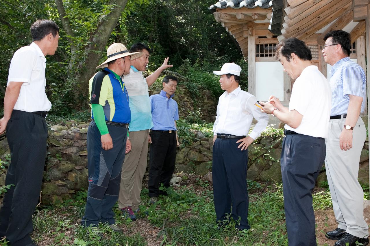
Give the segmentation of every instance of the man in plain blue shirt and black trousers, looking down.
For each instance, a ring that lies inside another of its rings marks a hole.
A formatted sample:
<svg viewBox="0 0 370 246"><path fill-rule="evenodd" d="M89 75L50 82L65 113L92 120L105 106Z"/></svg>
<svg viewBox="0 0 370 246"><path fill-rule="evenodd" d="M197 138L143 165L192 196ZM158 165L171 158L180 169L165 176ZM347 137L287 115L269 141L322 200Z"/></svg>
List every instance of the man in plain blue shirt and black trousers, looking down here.
<svg viewBox="0 0 370 246"><path fill-rule="evenodd" d="M175 170L176 146L179 146L175 122L179 119L179 110L176 101L172 99L177 78L165 76L162 85L161 93L149 97L153 122L149 154L150 204L155 204L159 195L167 195L165 191L159 191L159 184L169 187Z"/></svg>

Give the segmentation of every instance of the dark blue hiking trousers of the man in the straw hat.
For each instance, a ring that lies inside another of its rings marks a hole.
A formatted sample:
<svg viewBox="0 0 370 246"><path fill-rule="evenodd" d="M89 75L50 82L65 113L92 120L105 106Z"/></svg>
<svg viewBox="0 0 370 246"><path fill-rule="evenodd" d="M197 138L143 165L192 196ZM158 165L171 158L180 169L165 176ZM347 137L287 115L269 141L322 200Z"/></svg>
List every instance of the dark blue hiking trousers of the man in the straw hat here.
<svg viewBox="0 0 370 246"><path fill-rule="evenodd" d="M107 124L113 148L101 148L100 132L92 121L87 131L89 188L83 226L99 222L114 224L112 208L120 192L121 168L125 159L127 129Z"/></svg>

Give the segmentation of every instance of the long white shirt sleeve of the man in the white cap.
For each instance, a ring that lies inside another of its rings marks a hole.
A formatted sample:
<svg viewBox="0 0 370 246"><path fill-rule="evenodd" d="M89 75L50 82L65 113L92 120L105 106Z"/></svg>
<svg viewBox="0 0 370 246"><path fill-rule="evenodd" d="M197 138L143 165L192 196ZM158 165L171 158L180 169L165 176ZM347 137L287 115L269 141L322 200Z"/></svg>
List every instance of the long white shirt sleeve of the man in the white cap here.
<svg viewBox="0 0 370 246"><path fill-rule="evenodd" d="M262 113L261 109L254 105L257 102L255 96L251 96L246 102L246 110L252 113L253 117L258 121L252 132L248 135L252 139L258 138L262 131L266 129L269 123L269 116L266 113Z"/></svg>

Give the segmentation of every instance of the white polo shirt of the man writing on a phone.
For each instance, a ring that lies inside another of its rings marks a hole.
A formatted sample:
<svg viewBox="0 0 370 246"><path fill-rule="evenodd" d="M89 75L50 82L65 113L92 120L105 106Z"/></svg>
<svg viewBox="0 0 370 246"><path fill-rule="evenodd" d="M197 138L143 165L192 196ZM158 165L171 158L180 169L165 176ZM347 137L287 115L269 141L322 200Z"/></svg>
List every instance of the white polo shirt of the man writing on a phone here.
<svg viewBox="0 0 370 246"><path fill-rule="evenodd" d="M312 137L327 138L332 102L330 84L317 66L307 66L294 82L289 111L303 115L297 128L285 129Z"/></svg>

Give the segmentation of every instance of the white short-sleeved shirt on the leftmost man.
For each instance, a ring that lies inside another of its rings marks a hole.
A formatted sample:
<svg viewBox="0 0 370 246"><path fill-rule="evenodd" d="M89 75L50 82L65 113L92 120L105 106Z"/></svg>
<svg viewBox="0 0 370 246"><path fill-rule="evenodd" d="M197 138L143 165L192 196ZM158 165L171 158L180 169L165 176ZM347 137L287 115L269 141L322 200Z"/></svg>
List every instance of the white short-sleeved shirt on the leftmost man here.
<svg viewBox="0 0 370 246"><path fill-rule="evenodd" d="M51 102L45 93L46 58L34 42L18 49L11 59L8 85L23 82L14 109L35 112L49 111Z"/></svg>

